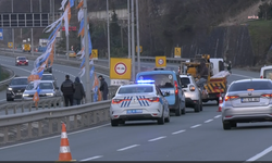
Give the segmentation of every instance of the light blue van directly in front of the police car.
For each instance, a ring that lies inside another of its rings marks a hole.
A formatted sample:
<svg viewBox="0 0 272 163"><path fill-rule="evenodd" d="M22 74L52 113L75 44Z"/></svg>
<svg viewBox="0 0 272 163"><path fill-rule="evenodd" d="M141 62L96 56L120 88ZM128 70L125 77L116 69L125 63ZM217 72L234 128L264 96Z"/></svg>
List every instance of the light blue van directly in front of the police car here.
<svg viewBox="0 0 272 163"><path fill-rule="evenodd" d="M154 70L140 72L136 75L136 80L154 80L162 93L170 92L170 96L165 97L170 112L175 113L176 116L185 114L185 95L181 78L174 71Z"/></svg>

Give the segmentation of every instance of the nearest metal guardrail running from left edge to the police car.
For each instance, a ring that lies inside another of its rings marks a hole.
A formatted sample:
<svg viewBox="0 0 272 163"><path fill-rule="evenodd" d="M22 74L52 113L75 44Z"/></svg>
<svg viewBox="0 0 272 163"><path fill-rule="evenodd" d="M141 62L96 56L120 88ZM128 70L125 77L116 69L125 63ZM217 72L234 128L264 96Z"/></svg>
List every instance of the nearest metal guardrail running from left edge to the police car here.
<svg viewBox="0 0 272 163"><path fill-rule="evenodd" d="M61 131L61 123L67 130L78 129L110 120L111 100L75 105L71 108L42 110L0 118L0 143L49 136Z"/></svg>

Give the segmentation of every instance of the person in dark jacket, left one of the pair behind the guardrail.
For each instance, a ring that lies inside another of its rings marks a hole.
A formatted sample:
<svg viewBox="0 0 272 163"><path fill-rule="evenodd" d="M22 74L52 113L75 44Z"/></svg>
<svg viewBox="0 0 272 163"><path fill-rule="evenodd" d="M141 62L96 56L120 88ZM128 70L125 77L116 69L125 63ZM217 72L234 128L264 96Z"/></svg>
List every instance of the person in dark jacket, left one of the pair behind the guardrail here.
<svg viewBox="0 0 272 163"><path fill-rule="evenodd" d="M69 103L70 105L73 105L75 86L74 83L70 79L69 75L66 75L65 78L66 79L61 85L61 91L64 97L65 106L69 106Z"/></svg>

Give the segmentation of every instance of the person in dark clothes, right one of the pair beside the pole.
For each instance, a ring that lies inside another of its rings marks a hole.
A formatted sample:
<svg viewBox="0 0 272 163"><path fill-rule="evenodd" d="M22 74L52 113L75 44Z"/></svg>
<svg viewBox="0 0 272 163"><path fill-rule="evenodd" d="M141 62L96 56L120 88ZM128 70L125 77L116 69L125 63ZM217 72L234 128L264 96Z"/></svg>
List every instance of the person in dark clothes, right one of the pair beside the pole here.
<svg viewBox="0 0 272 163"><path fill-rule="evenodd" d="M83 98L85 98L85 91L84 91L83 84L81 83L79 77L75 78L74 86L75 86L74 104L78 105L78 104L82 104L82 100Z"/></svg>

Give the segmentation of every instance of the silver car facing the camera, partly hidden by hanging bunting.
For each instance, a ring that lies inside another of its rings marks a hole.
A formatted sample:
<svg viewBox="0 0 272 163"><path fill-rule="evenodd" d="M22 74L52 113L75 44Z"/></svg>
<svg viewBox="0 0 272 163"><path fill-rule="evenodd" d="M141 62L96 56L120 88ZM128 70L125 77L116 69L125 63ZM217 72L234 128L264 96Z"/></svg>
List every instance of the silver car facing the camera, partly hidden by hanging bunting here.
<svg viewBox="0 0 272 163"><path fill-rule="evenodd" d="M34 88L34 82L28 84L25 91L23 92L23 100L33 100L33 97L37 89ZM39 82L39 98L47 98L47 97L58 97L61 96L61 92L58 87L54 86L53 80L40 80Z"/></svg>

